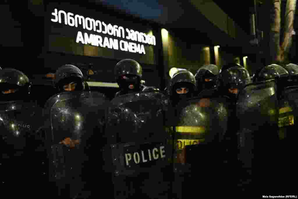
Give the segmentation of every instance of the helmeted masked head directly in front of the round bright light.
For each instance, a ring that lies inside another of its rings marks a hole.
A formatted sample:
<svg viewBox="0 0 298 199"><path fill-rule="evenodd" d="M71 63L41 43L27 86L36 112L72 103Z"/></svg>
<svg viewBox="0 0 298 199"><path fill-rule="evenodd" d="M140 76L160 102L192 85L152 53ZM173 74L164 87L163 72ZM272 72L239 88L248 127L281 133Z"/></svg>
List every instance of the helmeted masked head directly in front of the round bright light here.
<svg viewBox="0 0 298 199"><path fill-rule="evenodd" d="M194 75L188 70L179 70L173 74L169 84L169 94L173 105L178 104L180 100L192 98L197 90Z"/></svg>

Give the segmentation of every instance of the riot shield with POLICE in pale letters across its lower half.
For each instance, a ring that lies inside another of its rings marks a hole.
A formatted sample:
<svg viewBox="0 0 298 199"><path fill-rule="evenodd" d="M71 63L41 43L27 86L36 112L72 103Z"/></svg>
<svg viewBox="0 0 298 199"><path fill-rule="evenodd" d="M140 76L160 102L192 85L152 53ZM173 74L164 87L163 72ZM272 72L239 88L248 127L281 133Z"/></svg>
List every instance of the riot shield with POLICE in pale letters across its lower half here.
<svg viewBox="0 0 298 199"><path fill-rule="evenodd" d="M108 108L105 171L115 198L167 198L171 150L164 126L164 95L158 91L115 97Z"/></svg>

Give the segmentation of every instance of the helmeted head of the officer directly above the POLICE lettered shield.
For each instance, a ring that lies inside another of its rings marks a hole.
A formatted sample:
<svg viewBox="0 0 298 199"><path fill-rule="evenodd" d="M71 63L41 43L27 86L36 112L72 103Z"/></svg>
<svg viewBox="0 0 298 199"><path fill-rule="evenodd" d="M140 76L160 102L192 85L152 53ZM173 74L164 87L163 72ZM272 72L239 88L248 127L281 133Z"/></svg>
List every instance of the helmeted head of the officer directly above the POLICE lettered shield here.
<svg viewBox="0 0 298 199"><path fill-rule="evenodd" d="M135 60L124 59L115 66L115 78L121 91L140 91L142 66Z"/></svg>

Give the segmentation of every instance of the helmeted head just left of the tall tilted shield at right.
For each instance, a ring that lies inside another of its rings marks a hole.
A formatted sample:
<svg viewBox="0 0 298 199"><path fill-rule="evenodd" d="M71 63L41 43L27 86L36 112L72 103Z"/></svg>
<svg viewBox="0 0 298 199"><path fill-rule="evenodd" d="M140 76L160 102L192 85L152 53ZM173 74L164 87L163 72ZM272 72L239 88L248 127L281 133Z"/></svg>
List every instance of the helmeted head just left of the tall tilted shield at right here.
<svg viewBox="0 0 298 199"><path fill-rule="evenodd" d="M245 68L231 67L222 71L217 80L217 89L223 95L236 99L240 90L249 83L251 79Z"/></svg>

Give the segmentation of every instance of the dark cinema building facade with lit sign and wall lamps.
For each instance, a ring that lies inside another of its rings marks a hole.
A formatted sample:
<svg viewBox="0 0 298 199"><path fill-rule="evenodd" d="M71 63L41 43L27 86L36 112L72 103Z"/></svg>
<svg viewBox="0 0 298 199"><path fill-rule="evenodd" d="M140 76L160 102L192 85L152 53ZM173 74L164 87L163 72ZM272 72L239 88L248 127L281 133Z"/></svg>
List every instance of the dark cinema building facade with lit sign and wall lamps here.
<svg viewBox="0 0 298 199"><path fill-rule="evenodd" d="M144 19L92 1L73 4L30 0L18 5L7 1L3 13L10 13L6 17L12 20L6 20L9 29L2 31L5 47L1 65L12 67L11 63L15 63L14 68L35 78L55 72L64 64L73 64L88 77L87 81L117 87L114 66L129 58L141 64L146 85L163 89L172 67L195 74L204 64L221 67L235 60L244 64L241 49L229 48L237 43L233 38L235 31L231 36L216 28L194 7L174 3L173 6L176 6L173 10L182 9L181 14L173 20L171 16L175 13L167 13L168 19L162 21ZM188 27L186 21L192 20L190 16L202 26ZM7 39L10 37L13 39ZM88 76L89 69L93 75Z"/></svg>

